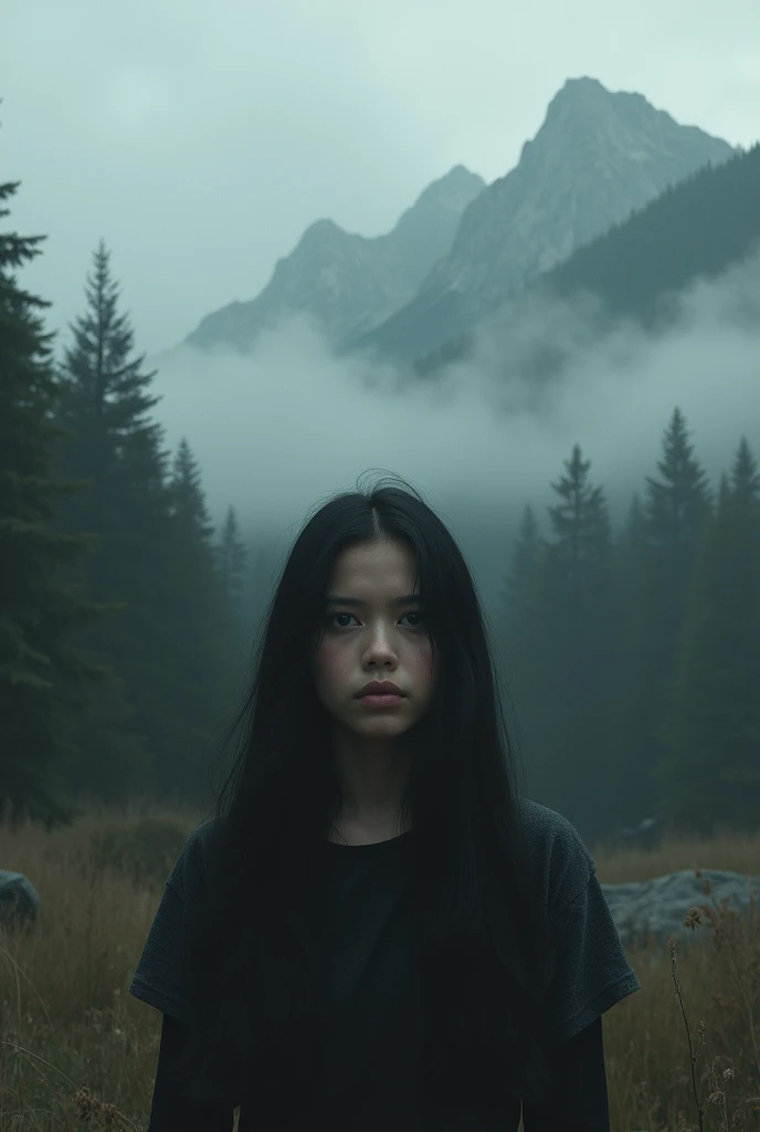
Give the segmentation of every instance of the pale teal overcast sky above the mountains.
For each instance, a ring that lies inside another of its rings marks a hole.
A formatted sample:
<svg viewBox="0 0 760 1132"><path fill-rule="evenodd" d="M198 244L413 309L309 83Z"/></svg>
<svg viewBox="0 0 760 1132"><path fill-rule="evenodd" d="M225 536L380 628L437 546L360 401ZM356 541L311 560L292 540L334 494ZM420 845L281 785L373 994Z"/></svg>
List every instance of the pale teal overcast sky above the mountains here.
<svg viewBox="0 0 760 1132"><path fill-rule="evenodd" d="M569 77L758 139L758 0L2 0L0 179L80 309L100 237L138 346L249 299L304 228L392 228L458 162L503 175Z"/></svg>

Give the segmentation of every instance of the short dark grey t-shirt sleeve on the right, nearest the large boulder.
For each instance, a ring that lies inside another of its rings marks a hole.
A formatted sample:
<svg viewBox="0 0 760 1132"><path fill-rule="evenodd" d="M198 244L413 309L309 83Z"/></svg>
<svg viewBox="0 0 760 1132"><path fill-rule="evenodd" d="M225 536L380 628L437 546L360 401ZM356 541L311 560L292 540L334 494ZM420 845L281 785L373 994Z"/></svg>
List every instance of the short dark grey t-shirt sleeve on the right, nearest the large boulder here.
<svg viewBox="0 0 760 1132"><path fill-rule="evenodd" d="M551 919L555 963L549 998L558 1041L567 1041L615 1003L641 989L594 861L585 850L582 859L586 882L579 892L559 903Z"/></svg>

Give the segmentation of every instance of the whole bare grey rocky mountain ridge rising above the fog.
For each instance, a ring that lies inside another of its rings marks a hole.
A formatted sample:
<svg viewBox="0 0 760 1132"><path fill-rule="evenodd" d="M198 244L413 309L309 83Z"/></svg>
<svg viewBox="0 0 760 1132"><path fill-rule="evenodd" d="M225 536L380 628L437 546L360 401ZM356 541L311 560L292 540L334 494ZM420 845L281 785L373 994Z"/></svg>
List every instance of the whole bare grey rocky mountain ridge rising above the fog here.
<svg viewBox="0 0 760 1132"><path fill-rule="evenodd" d="M187 342L248 351L293 314L338 352L411 361L472 329L543 272L734 149L641 94L568 79L518 164L487 187L456 165L391 232L311 224L254 299L208 315Z"/></svg>

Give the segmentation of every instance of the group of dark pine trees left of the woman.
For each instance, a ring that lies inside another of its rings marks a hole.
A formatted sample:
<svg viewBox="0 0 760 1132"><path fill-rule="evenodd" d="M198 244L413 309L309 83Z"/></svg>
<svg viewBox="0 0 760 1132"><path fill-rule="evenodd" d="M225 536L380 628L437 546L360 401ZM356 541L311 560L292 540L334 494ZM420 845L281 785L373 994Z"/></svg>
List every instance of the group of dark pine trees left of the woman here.
<svg viewBox="0 0 760 1132"><path fill-rule="evenodd" d="M0 233L0 808L200 801L238 691L248 550L233 507L214 531L188 440L164 448L103 243L54 360L50 305L14 274L42 239Z"/></svg>

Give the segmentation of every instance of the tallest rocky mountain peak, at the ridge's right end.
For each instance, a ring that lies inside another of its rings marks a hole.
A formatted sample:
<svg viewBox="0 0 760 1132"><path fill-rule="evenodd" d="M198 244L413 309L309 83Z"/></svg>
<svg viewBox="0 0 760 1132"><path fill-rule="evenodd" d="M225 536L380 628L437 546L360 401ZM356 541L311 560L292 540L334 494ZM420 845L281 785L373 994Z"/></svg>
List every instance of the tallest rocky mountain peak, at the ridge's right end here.
<svg viewBox="0 0 760 1132"><path fill-rule="evenodd" d="M415 299L364 344L397 357L434 350L668 185L732 153L641 94L568 79L515 169L463 212L451 250Z"/></svg>

